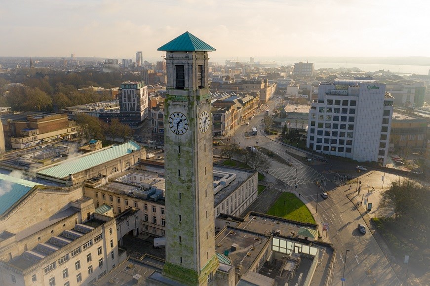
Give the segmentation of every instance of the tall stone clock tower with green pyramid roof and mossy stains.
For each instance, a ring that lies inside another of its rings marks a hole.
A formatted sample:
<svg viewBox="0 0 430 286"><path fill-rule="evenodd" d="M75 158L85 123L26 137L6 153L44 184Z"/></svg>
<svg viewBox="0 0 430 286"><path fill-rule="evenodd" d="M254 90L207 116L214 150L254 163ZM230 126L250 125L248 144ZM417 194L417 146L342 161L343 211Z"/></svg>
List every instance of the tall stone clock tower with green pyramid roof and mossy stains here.
<svg viewBox="0 0 430 286"><path fill-rule="evenodd" d="M212 284L219 261L207 52L215 49L186 32L158 50L166 52L167 68L163 275L187 285Z"/></svg>

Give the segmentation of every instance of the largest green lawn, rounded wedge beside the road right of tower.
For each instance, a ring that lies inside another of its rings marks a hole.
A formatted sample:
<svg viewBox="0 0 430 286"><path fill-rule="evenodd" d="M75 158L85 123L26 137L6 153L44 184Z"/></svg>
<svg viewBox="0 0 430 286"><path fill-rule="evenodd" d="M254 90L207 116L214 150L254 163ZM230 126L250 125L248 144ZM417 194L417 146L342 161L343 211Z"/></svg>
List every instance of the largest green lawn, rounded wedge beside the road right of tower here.
<svg viewBox="0 0 430 286"><path fill-rule="evenodd" d="M292 193L282 193L267 214L305 223L315 223L306 205Z"/></svg>

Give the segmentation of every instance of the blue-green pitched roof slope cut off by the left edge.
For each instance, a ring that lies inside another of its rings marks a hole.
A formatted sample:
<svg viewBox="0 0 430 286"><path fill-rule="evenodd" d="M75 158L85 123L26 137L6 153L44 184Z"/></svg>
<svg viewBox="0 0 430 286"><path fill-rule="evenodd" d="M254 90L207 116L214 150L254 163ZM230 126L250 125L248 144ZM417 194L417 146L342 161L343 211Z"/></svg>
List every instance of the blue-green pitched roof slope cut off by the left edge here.
<svg viewBox="0 0 430 286"><path fill-rule="evenodd" d="M0 214L18 202L36 185L41 184L0 174Z"/></svg>

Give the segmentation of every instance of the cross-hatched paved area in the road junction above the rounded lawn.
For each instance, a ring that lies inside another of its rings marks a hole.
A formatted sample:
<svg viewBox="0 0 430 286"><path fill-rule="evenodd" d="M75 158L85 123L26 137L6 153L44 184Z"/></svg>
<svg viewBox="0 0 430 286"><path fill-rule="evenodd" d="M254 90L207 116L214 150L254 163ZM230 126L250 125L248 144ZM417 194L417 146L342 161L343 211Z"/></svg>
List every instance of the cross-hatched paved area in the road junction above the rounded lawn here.
<svg viewBox="0 0 430 286"><path fill-rule="evenodd" d="M290 186L294 186L296 179L296 169L297 185L308 184L321 180L328 181L328 178L322 176L308 166L287 166L283 168L274 168L269 170L269 174Z"/></svg>

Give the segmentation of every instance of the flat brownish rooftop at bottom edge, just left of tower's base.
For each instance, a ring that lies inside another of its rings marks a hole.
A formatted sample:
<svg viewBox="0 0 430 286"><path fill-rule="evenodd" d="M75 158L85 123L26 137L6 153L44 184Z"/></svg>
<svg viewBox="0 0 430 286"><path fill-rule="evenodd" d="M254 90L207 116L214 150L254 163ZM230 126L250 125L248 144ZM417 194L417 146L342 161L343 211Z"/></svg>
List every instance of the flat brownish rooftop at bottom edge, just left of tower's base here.
<svg viewBox="0 0 430 286"><path fill-rule="evenodd" d="M154 272L161 273L163 267L164 261L156 257L145 255L140 260L128 257L107 275L95 282L94 285L146 285L146 279ZM136 279L133 279L133 277Z"/></svg>

